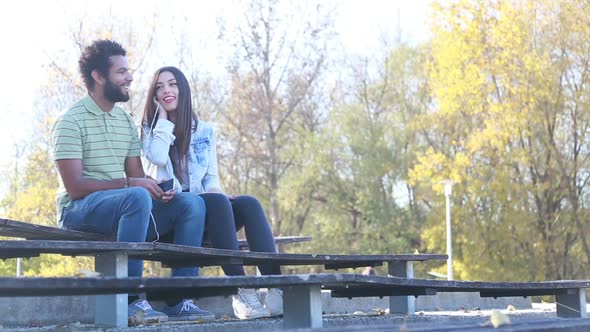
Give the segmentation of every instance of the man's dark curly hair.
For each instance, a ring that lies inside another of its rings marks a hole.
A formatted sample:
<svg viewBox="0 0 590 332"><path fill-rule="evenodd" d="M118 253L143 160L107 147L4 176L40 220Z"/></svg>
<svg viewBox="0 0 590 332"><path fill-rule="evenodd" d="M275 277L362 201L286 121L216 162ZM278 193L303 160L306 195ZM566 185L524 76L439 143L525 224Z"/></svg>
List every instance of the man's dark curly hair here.
<svg viewBox="0 0 590 332"><path fill-rule="evenodd" d="M78 61L80 74L82 74L86 88L89 91L94 89L93 70L97 70L103 77L108 77L111 67L110 57L113 55L125 56L126 54L123 46L112 40L100 39L87 46Z"/></svg>

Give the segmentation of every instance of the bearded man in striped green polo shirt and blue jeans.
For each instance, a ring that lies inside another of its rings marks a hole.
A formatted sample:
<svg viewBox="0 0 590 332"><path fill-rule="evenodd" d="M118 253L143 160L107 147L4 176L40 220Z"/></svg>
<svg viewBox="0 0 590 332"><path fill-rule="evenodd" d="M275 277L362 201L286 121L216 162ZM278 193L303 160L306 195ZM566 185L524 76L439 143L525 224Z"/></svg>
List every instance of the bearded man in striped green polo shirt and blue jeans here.
<svg viewBox="0 0 590 332"><path fill-rule="evenodd" d="M117 102L129 100L133 76L118 43L97 40L79 60L88 95L61 115L51 132L53 158L60 174L57 218L60 227L116 234L117 241L144 242L174 234L174 243L200 246L205 204L197 195L162 191L146 178L140 142L129 114ZM150 223L153 221L153 223ZM129 260L129 276L142 275L143 262ZM198 275L198 269L173 269L173 276ZM211 319L191 300L158 312L145 300L129 297L129 316L146 321Z"/></svg>

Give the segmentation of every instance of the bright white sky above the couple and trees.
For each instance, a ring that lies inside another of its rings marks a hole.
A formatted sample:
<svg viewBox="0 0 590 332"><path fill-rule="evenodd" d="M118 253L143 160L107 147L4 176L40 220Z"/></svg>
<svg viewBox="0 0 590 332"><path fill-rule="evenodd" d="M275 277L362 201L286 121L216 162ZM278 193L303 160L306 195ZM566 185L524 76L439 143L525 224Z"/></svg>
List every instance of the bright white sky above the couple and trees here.
<svg viewBox="0 0 590 332"><path fill-rule="evenodd" d="M429 2L326 0L322 3L336 8L335 29L344 49L362 55L378 47L384 33L395 36L398 27L403 41L427 40L425 20ZM293 3L299 1L293 0ZM96 17L108 15L111 11L119 16L143 18L151 17L154 11L158 11L163 24L172 25L175 21L165 22L165 18L191 13L191 17L197 18L192 19L194 23L191 24L198 25L198 31L206 31L212 35L211 38L215 38L216 18L222 16L231 21L232 12L235 13L232 4L235 3L230 0L11 2L10 10L4 8L0 11L0 41L3 43L0 59L4 73L0 80L0 109L3 113L0 121L0 168L13 160L15 144L26 142L30 136L34 96L46 79L43 64L50 56L57 57L64 52L69 37L67 33L80 16ZM78 54L71 56L77 59Z"/></svg>

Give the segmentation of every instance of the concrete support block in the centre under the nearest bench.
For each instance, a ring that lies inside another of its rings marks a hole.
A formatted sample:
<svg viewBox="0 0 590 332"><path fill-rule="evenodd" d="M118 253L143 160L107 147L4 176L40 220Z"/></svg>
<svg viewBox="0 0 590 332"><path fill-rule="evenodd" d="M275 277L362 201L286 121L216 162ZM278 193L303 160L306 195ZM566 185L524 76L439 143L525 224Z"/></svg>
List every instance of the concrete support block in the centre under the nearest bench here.
<svg viewBox="0 0 590 332"><path fill-rule="evenodd" d="M284 328L322 327L322 289L320 285L283 288Z"/></svg>

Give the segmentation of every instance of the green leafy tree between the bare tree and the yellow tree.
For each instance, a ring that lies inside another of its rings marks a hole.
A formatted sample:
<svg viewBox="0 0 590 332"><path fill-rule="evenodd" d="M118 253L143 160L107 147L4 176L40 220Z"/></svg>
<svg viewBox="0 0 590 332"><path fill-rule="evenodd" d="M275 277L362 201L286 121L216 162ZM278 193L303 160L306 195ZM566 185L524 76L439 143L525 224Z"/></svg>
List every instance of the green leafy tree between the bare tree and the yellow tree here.
<svg viewBox="0 0 590 332"><path fill-rule="evenodd" d="M352 66L310 155L321 202L307 232L315 251L422 251L423 207L405 185L419 147L412 121L428 106L427 48L396 45ZM373 70L377 68L377 70Z"/></svg>

